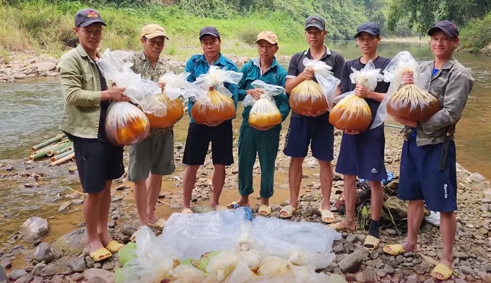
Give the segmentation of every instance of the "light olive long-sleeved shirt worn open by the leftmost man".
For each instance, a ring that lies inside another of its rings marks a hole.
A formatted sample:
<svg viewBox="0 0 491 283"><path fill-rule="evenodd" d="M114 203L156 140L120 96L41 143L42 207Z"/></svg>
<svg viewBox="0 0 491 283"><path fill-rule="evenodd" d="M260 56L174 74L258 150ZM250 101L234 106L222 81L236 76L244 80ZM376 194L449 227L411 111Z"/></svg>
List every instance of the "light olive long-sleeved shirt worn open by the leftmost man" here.
<svg viewBox="0 0 491 283"><path fill-rule="evenodd" d="M60 58L57 70L65 105L59 129L78 138L97 139L102 91L95 62L79 44Z"/></svg>

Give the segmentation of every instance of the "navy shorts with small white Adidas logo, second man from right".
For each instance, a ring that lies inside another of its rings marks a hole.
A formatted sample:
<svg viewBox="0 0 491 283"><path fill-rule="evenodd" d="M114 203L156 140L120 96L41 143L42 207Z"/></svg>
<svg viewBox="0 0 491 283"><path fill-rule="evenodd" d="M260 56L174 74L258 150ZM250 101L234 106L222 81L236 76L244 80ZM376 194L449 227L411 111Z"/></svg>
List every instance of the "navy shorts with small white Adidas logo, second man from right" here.
<svg viewBox="0 0 491 283"><path fill-rule="evenodd" d="M369 130L358 135L343 134L336 172L369 181L386 179L384 147L385 137L381 130Z"/></svg>

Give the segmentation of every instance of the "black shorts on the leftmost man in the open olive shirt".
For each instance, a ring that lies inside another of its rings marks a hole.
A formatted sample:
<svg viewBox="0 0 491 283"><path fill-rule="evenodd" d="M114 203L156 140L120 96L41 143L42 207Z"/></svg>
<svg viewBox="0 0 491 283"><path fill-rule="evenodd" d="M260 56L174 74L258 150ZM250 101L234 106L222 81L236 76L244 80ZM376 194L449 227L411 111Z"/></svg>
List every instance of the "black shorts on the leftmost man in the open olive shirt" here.
<svg viewBox="0 0 491 283"><path fill-rule="evenodd" d="M99 193L104 190L107 180L124 174L123 147L109 142L74 139L73 148L84 193Z"/></svg>

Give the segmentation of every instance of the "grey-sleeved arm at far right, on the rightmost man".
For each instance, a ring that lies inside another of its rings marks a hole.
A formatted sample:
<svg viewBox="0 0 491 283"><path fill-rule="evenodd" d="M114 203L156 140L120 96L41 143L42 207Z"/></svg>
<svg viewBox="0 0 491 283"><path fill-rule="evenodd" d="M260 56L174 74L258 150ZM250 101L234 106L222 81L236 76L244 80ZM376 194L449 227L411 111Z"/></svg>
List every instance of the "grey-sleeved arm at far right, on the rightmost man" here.
<svg viewBox="0 0 491 283"><path fill-rule="evenodd" d="M451 74L445 88L443 108L426 121L420 121L426 134L434 133L459 121L464 110L469 93L474 85L474 79L467 70L459 70Z"/></svg>

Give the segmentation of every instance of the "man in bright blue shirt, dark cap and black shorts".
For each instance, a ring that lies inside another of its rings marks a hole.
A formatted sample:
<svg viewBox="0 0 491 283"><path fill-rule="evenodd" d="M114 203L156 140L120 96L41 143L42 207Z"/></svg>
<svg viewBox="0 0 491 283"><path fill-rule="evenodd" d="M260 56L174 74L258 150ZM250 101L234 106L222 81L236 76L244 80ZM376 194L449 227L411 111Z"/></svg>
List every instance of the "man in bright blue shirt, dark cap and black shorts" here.
<svg viewBox="0 0 491 283"><path fill-rule="evenodd" d="M210 65L220 68L225 67L227 71L239 72L234 62L227 59L220 53L221 40L218 30L213 27L205 27L199 31L199 40L203 55L193 55L186 62L185 72L191 73L188 81L194 82L199 75L206 74ZM238 103L237 85L225 83L224 86L232 93L235 108ZM232 120L220 121L217 123L197 124L191 117L193 101L188 104L190 124L186 145L184 147L183 163L187 165L183 180L183 213L192 213L191 194L196 183L196 172L205 163L208 146L212 143L213 160L213 195L211 206L215 209L224 209L219 204L223 183L225 182L225 166L234 163L232 152Z"/></svg>

